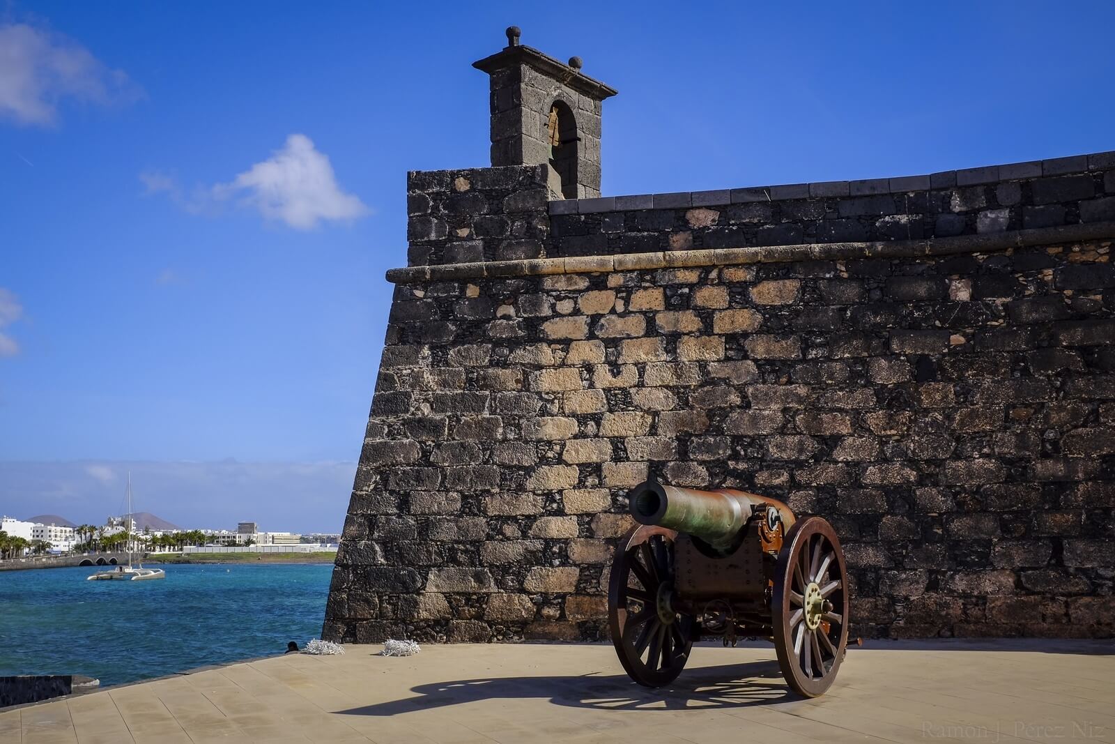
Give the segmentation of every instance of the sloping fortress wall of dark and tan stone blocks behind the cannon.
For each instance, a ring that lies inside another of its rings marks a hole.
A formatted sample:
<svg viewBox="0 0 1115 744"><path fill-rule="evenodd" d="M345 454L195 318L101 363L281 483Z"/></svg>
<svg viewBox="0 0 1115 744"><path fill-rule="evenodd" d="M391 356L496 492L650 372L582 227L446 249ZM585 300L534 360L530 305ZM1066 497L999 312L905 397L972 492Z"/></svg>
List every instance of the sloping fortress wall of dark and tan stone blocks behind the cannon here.
<svg viewBox="0 0 1115 744"><path fill-rule="evenodd" d="M853 635L1115 634L1115 153L581 200L556 181L409 174L323 638L607 637L649 473L826 516Z"/></svg>

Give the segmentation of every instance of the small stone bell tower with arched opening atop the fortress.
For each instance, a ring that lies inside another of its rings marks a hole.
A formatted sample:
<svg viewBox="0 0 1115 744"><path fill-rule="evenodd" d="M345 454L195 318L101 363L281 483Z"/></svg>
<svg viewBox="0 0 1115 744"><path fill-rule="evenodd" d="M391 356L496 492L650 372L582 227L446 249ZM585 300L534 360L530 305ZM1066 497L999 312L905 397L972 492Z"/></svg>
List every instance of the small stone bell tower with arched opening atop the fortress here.
<svg viewBox="0 0 1115 744"><path fill-rule="evenodd" d="M601 102L615 90L518 42L473 67L492 76L492 165L552 166L550 189L563 199L600 196Z"/></svg>

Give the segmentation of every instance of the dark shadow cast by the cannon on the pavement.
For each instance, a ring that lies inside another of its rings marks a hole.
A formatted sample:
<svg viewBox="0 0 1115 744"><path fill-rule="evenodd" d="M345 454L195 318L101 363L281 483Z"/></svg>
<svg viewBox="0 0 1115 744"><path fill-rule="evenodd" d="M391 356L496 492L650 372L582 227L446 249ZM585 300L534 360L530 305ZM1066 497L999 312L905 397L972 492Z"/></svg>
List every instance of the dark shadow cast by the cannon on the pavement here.
<svg viewBox="0 0 1115 744"><path fill-rule="evenodd" d="M418 697L366 705L341 714L391 716L478 700L539 697L555 705L614 711L740 708L799 699L772 660L687 669L671 685L641 687L627 675L481 677L411 687Z"/></svg>

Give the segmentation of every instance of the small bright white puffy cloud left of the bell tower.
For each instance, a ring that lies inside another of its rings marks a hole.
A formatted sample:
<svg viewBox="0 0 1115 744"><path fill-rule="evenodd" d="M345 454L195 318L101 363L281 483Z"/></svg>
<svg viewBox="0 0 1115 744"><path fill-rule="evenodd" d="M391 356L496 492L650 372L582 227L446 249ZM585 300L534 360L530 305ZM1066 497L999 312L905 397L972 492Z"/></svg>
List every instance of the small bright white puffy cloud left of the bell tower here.
<svg viewBox="0 0 1115 744"><path fill-rule="evenodd" d="M304 134L292 134L270 158L256 163L232 183L213 187L216 200L240 195L268 220L310 230L321 220L356 220L369 210L355 194L341 191L329 157Z"/></svg>

